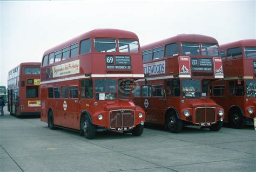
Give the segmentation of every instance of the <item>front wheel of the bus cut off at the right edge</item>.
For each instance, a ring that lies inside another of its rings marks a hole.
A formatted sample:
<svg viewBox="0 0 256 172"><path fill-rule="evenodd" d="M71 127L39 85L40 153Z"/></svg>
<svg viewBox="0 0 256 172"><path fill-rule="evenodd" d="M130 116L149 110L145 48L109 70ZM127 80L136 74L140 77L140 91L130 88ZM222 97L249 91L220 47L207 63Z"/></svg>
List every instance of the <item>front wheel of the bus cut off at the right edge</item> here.
<svg viewBox="0 0 256 172"><path fill-rule="evenodd" d="M233 128L244 128L245 117L242 116L238 109L234 109L230 114L228 114L228 123L230 123Z"/></svg>

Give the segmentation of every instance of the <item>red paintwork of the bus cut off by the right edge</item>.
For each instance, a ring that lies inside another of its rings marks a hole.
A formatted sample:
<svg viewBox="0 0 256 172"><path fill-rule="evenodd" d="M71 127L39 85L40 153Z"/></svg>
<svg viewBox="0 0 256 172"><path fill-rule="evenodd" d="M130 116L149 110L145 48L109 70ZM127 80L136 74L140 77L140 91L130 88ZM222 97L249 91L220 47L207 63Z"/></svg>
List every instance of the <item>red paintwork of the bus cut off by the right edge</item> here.
<svg viewBox="0 0 256 172"><path fill-rule="evenodd" d="M227 50L235 47L242 48L242 58L227 60ZM219 105L223 106L226 112L225 121L228 120L228 115L232 113L232 108L238 107L242 114L247 118L255 117L255 105L256 98L246 96L246 88L244 96L232 95L228 91L228 81L235 81L238 84L238 80L246 82L246 80L255 80L256 73L253 71L253 61L256 59L247 59L244 53L244 47L256 47L256 39L239 40L232 43L220 45L220 51L226 50L226 60L223 61L224 81L213 82L213 86L223 85L226 87L225 96L212 97ZM246 84L245 84L246 85ZM248 99L248 102L246 101ZM253 108L253 114L247 112L248 108Z"/></svg>

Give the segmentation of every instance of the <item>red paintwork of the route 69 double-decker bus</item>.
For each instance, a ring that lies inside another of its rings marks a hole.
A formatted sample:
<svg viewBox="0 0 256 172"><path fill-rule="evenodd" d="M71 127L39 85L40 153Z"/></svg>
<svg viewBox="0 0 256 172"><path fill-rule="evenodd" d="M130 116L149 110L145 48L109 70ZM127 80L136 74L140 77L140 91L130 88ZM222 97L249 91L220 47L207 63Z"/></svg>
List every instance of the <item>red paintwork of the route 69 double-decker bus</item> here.
<svg viewBox="0 0 256 172"><path fill-rule="evenodd" d="M55 52L61 50L67 46L73 45L75 43L80 43L84 39L90 38L91 42L91 52L87 54L79 54L77 57L65 59L58 61L56 63L41 66L41 94L42 94L42 115L41 120L48 122L48 112L51 109L53 111L54 123L58 126L68 127L72 129L80 129L80 120L83 111L87 111L91 116L92 123L96 126L102 126L107 129L110 129L110 121L109 121L109 111L114 109L134 109L135 111L135 122L134 126L140 124L141 121L145 121L145 112L142 108L133 104L132 100L124 101L122 99L117 100L96 100L94 97L92 99L82 99L80 95L78 95L77 99L50 99L48 98L48 88L49 87L60 87L60 86L78 86L78 91L81 91L81 87L79 84L79 79L73 78L68 81L59 81L52 82L52 80L56 79L70 79L71 77L80 77L80 79L84 79L85 74L143 74L143 63L142 63L142 53L139 47L138 53L120 53L120 52L95 52L93 39L94 38L112 38L112 39L136 39L138 37L135 33L117 30L117 29L96 29L89 32L86 32L78 37L68 40L65 43L57 45L49 50L44 52L45 54L49 54L51 52ZM80 46L79 46L80 52ZM131 56L131 70L106 70L106 55L126 55ZM46 68L65 64L70 61L79 60L79 73L65 75L63 77L56 78L46 78ZM82 78L81 78L82 77ZM104 76L103 76L104 78ZM101 78L101 79L103 79ZM133 77L112 77L113 79L119 78L133 78ZM138 77L137 77L138 78ZM142 77L139 77L142 78ZM98 79L98 78L97 78ZM92 77L93 86L95 78ZM44 84L45 81L48 81L48 84ZM95 90L93 88L93 94L95 94ZM68 105L66 111L64 111L63 103L66 101ZM77 102L76 102L77 101ZM79 103L80 102L80 103ZM98 102L98 105L95 106L95 102ZM143 113L143 118L139 119L138 114ZM99 114L103 115L103 120L98 120L97 116ZM126 126L127 127L127 126ZM131 126L130 126L131 127Z"/></svg>

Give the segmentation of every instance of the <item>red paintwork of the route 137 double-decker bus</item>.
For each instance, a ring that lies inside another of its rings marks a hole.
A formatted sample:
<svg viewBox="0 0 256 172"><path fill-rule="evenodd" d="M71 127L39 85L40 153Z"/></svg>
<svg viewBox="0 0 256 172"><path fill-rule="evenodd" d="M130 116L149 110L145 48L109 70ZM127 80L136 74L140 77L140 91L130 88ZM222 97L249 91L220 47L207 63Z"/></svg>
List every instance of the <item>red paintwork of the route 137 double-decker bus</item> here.
<svg viewBox="0 0 256 172"><path fill-rule="evenodd" d="M217 44L218 42L215 38L204 36L204 35L178 35L174 36L171 38L167 38L164 40L160 40L158 42L148 44L145 46L142 46L142 51L147 51L147 50L152 50L160 46L164 46L167 44L172 44L172 43L178 43L179 45L179 54L177 56L173 57L164 57L156 60L150 60L146 61L144 65L150 64L153 62L157 61L165 61L165 73L160 73L160 74L151 74L147 78L147 85L163 85L165 92L167 92L167 86L166 86L166 81L170 81L173 78L174 79L182 79L185 77L188 78L193 78L193 79L209 79L211 81L216 80L217 77L214 77L214 66L213 66L213 71L211 72L197 72L197 71L191 71L191 58L210 58L212 61L214 61L214 58L219 58L220 56L217 57L211 57L211 56L190 56L190 55L182 55L181 54L181 43L208 43L208 44ZM201 54L201 51L200 51ZM184 59L185 58L190 58L189 61L179 61L179 59ZM214 64L214 62L212 62ZM190 65L187 66L188 73L184 74L181 72L181 67L185 65ZM218 66L219 67L219 66ZM217 68L216 68L217 69ZM198 74L205 74L208 73L210 76L198 76ZM190 75L190 76L184 76L184 75ZM223 76L223 75L222 75ZM161 79L156 79L158 77L162 77ZM139 85L145 85L143 80L139 80ZM149 101L149 106L145 107L144 106L144 101L147 99ZM146 122L150 123L158 123L161 125L165 124L165 117L169 109L174 109L176 113L179 116L179 119L187 123L188 125L198 125L196 123L196 118L195 118L195 108L197 107L215 107L216 108L216 113L215 113L215 122L219 121L221 116L218 115L218 111L220 109L223 109L221 106L217 105L210 97L206 98L182 98L180 97L168 97L166 96L166 100L164 100L163 97L140 97L140 98L133 98L134 102L136 105L139 105L144 108L146 112ZM181 100L185 100L184 103L181 103ZM190 116L187 118L184 116L184 111L188 109L190 111ZM207 121L206 121L207 122Z"/></svg>

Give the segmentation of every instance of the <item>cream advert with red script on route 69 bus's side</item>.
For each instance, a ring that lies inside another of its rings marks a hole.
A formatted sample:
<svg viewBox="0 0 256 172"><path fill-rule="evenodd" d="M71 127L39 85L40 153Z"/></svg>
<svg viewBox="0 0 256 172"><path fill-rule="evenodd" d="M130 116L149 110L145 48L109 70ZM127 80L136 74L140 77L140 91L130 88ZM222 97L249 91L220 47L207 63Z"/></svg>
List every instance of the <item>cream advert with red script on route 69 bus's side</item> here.
<svg viewBox="0 0 256 172"><path fill-rule="evenodd" d="M79 73L79 60L70 61L68 63L52 67L53 78L76 73Z"/></svg>

